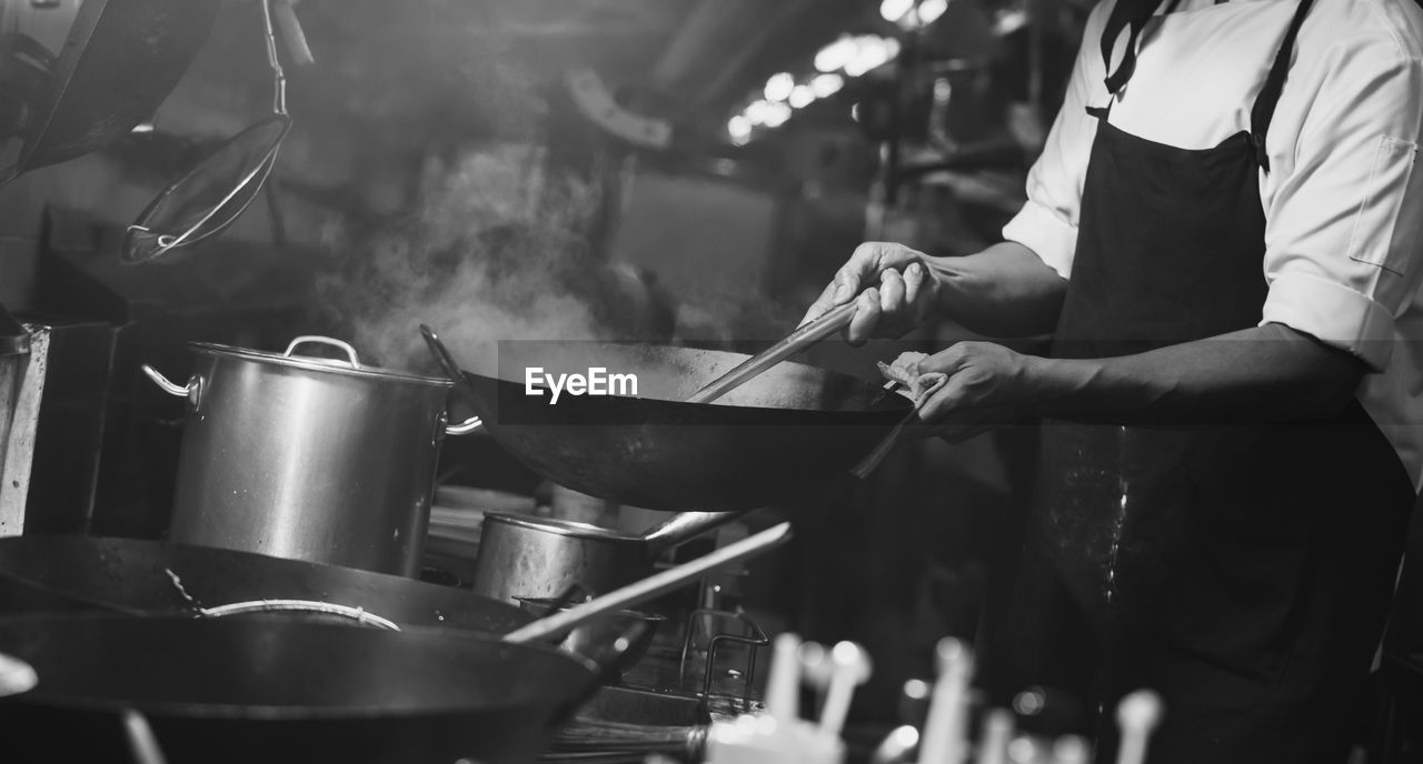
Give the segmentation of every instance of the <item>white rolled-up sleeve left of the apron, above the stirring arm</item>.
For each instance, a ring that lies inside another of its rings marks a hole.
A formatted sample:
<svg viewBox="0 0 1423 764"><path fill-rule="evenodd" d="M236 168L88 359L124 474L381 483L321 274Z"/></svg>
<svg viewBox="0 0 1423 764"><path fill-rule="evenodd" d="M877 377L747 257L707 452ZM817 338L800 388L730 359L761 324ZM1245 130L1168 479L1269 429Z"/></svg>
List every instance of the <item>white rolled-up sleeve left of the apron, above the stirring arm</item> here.
<svg viewBox="0 0 1423 764"><path fill-rule="evenodd" d="M1097 121L1086 108L1106 105L1107 89L1101 85L1106 74L1097 43L1111 4L1099 3L1087 18L1062 109L1027 173L1027 203L1003 226L1003 239L1033 250L1063 278L1072 275L1087 159L1097 135ZM1096 104L1094 98L1103 102Z"/></svg>

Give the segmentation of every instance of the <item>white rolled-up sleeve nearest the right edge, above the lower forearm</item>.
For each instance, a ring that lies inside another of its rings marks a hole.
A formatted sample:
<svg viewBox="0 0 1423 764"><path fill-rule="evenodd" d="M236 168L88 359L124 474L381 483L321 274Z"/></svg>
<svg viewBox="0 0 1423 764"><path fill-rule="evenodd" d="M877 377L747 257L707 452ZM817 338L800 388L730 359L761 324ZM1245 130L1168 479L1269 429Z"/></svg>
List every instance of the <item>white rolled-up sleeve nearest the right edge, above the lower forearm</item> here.
<svg viewBox="0 0 1423 764"><path fill-rule="evenodd" d="M1325 51L1319 91L1265 209L1261 322L1386 368L1423 277L1423 65L1386 36ZM1288 85L1286 85L1288 87ZM1271 146L1272 156L1278 146Z"/></svg>

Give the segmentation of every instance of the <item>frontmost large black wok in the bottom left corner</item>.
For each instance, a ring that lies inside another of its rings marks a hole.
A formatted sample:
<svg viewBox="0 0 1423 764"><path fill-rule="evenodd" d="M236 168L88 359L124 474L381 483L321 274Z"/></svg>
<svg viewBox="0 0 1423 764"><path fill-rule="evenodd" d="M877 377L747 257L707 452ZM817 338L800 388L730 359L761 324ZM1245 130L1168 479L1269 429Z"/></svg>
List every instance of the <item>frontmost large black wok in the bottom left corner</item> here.
<svg viewBox="0 0 1423 764"><path fill-rule="evenodd" d="M596 690L542 645L441 629L67 613L0 619L40 683L0 700L4 761L132 761L147 717L171 764L532 761Z"/></svg>

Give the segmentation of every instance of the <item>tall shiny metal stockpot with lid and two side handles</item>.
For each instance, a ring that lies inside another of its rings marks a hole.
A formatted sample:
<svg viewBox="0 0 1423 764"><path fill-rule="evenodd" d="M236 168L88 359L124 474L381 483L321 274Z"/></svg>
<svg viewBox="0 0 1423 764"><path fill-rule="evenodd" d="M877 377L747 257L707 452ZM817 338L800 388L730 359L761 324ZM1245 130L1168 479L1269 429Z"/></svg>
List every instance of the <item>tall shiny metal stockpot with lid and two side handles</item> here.
<svg viewBox="0 0 1423 764"><path fill-rule="evenodd" d="M340 348L347 359L293 355ZM191 344L169 537L290 560L414 577L450 381L361 366L339 339L297 337L283 354Z"/></svg>

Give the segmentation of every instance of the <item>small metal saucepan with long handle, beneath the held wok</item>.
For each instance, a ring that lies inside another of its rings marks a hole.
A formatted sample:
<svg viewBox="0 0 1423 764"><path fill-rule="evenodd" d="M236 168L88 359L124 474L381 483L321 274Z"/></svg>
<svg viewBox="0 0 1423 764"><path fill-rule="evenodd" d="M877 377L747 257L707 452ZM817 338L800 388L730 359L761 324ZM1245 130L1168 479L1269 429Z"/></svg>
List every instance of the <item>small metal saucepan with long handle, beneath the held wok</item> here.
<svg viewBox="0 0 1423 764"><path fill-rule="evenodd" d="M653 560L663 550L743 514L680 513L646 535L546 517L485 514L472 588L502 602L559 596L575 585L592 595L606 594L652 575Z"/></svg>

